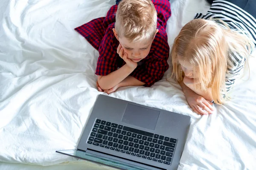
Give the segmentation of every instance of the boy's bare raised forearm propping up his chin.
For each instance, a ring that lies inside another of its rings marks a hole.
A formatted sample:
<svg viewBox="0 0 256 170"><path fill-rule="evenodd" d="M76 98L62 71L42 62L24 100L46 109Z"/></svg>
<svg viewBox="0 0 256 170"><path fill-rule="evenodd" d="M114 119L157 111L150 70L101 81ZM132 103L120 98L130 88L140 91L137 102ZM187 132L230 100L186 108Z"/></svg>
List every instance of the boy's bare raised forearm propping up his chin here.
<svg viewBox="0 0 256 170"><path fill-rule="evenodd" d="M134 70L132 70L125 64L118 70L113 71L112 73L106 76L98 76L99 87L102 90L109 90L113 88L115 85L122 82L133 71Z"/></svg>

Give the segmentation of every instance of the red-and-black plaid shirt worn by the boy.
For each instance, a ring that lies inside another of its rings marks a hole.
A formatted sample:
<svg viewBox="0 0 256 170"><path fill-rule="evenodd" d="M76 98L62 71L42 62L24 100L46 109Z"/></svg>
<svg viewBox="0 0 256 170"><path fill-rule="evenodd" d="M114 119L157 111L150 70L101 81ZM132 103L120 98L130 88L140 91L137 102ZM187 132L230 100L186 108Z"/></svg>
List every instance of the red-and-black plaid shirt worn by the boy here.
<svg viewBox="0 0 256 170"><path fill-rule="evenodd" d="M169 68L169 45L167 42L166 24L171 16L171 8L168 0L152 0L157 11L157 29L159 30L152 42L150 52L145 59L138 63L137 68L130 76L144 82L150 87L162 79L164 72ZM113 34L115 27L115 14L117 5L110 8L106 17L91 20L82 26L75 28L94 48L99 50L97 62L97 75L105 76L125 65L125 61L119 57L116 50L119 41Z"/></svg>

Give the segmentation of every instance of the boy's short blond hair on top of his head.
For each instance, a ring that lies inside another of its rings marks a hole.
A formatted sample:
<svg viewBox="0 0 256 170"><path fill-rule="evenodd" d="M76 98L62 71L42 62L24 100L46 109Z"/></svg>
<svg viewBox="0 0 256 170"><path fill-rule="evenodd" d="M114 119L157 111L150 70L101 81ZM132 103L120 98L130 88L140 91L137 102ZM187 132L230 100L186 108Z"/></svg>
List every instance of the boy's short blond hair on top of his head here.
<svg viewBox="0 0 256 170"><path fill-rule="evenodd" d="M151 0L122 0L116 11L115 29L131 42L154 38L157 11Z"/></svg>

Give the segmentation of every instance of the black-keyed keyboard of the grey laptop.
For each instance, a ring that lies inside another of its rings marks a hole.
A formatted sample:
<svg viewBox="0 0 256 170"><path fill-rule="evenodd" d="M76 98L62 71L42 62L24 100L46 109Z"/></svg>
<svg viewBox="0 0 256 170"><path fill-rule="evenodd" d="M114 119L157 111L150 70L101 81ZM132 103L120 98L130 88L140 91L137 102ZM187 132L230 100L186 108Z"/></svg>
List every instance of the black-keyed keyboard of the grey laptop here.
<svg viewBox="0 0 256 170"><path fill-rule="evenodd" d="M96 119L87 143L170 165L177 139Z"/></svg>

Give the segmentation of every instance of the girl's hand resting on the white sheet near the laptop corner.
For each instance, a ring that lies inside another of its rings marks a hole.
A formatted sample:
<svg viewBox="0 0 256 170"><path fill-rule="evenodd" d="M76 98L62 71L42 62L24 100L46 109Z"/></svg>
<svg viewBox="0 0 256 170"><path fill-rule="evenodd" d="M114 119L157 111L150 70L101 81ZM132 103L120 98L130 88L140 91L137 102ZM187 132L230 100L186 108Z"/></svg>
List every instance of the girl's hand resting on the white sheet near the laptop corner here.
<svg viewBox="0 0 256 170"><path fill-rule="evenodd" d="M198 113L200 115L208 115L213 113L213 103L204 99L204 97L196 94L191 89L186 89L186 93L184 94L190 108L192 108L195 113Z"/></svg>

